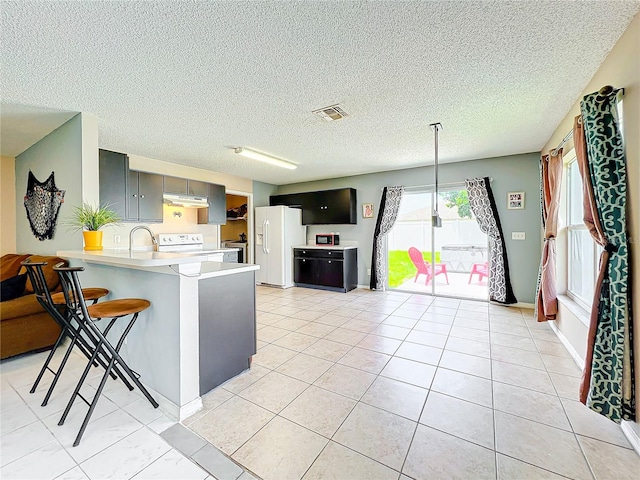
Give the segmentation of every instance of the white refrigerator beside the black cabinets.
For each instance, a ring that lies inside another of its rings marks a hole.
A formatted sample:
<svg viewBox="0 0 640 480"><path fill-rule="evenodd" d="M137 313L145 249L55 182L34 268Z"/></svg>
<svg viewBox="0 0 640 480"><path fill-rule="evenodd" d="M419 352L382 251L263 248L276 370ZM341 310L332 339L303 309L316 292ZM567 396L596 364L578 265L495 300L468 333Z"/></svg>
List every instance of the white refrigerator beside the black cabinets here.
<svg viewBox="0 0 640 480"><path fill-rule="evenodd" d="M256 281L293 287L293 247L307 243L302 210L284 206L256 207Z"/></svg>

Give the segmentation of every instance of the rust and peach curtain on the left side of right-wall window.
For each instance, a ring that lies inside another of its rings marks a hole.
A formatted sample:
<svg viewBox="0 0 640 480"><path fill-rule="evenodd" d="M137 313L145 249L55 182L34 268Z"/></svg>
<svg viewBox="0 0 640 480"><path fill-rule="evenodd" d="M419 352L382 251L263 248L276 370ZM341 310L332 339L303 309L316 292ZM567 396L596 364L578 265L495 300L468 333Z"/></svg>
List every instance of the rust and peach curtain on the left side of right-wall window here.
<svg viewBox="0 0 640 480"><path fill-rule="evenodd" d="M536 294L536 312L539 322L555 320L558 313L556 292L556 235L558 209L562 184L562 149L544 155L541 161L542 224L544 246L540 261L540 275Z"/></svg>

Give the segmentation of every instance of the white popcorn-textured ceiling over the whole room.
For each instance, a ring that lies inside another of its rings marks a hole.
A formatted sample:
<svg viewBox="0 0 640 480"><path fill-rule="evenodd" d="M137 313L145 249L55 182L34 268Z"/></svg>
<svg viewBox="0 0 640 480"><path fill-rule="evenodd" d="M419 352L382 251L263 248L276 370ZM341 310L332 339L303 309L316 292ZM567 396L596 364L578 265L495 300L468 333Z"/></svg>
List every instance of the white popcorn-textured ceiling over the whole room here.
<svg viewBox="0 0 640 480"><path fill-rule="evenodd" d="M438 121L443 162L539 151L639 9L3 1L2 133L21 106L90 112L102 148L274 184L431 164ZM350 116L311 114L335 103Z"/></svg>

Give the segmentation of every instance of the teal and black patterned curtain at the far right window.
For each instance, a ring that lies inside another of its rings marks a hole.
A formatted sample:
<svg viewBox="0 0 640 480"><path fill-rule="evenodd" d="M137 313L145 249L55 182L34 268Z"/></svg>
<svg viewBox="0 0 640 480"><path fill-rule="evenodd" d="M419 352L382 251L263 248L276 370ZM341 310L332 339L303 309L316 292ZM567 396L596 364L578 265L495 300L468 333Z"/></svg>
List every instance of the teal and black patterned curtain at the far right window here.
<svg viewBox="0 0 640 480"><path fill-rule="evenodd" d="M596 209L593 213L601 225L605 244L589 329L581 400L616 423L635 419L627 174L618 94L619 91L604 87L586 95L580 103L584 134L582 129L577 130L578 135L574 134L576 153L586 153ZM580 148L579 142L584 142L582 146L586 151Z"/></svg>

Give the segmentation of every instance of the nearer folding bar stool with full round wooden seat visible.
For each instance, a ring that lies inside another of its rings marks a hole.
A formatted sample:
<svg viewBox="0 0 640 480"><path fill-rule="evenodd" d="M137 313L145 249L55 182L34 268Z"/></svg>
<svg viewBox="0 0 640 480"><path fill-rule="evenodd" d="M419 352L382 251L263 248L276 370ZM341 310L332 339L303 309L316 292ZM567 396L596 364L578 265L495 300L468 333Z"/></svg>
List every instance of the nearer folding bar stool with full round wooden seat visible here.
<svg viewBox="0 0 640 480"><path fill-rule="evenodd" d="M78 381L78 385L76 386L73 395L69 399L69 403L58 422L58 425L64 424L64 421L71 410L71 406L77 397L80 397L82 401L84 401L87 405L89 405L89 411L87 412L84 421L82 422L82 426L80 427L80 431L73 442L73 446L77 447L80 444L80 440L82 439L82 435L84 434L87 425L89 424L89 420L91 419L91 415L93 414L94 409L98 403L100 395L102 394L102 390L109 378L109 374L116 367L119 366L124 370L127 376L133 381L133 383L140 389L143 395L149 400L151 405L154 408L158 408L158 403L154 400L151 394L147 391L147 389L142 385L140 380L138 379L139 375L129 368L129 365L124 361L124 359L120 356L120 348L124 344L124 340L131 331L133 324L138 319L138 314L151 306L151 303L148 300L144 300L142 298L123 298L119 300L109 300L106 302L96 303L91 306L87 306L85 302L85 298L82 294L82 287L80 286L80 280L78 279L78 272L84 271L84 267L63 267L62 264L58 264L53 267L53 270L58 272L60 276L60 282L62 283L62 292L64 293L65 301L67 304L67 310L71 313L71 316L78 322L78 325L82 329L83 332L87 332L91 335L92 338L97 339L97 343L94 348L93 355L89 359L87 366ZM115 324L116 320L121 317L126 317L131 315L131 319L129 323L124 328L122 335L118 339L115 347L111 344L111 342L107 339L107 335L111 327ZM100 319L110 319L109 323L105 327L104 331L101 331L97 325L95 324L96 320ZM95 362L95 360L99 357L100 354L105 355L105 360L108 362L108 365L105 369L105 373L102 376L100 381L100 385L96 390L96 393L89 402L86 398L84 398L80 394L80 388L87 378L87 374L91 369L91 365Z"/></svg>

